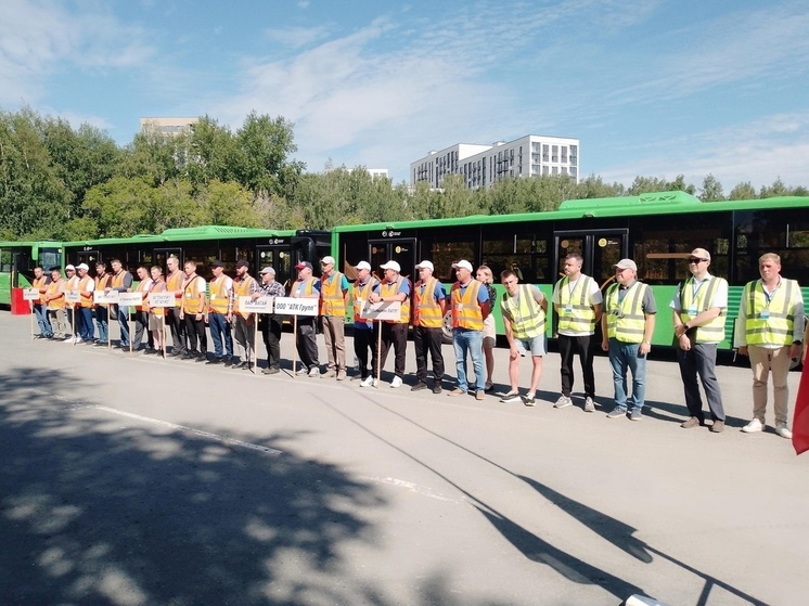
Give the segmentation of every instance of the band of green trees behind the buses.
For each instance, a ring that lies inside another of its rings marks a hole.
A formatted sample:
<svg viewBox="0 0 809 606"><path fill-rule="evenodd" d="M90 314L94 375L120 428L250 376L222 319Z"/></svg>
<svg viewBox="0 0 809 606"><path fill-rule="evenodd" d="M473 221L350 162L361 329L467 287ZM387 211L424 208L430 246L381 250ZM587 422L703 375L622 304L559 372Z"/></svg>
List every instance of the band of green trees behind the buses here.
<svg viewBox="0 0 809 606"><path fill-rule="evenodd" d="M697 188L682 175L669 181L639 176L628 188L591 175L505 179L470 190L460 175L440 190L394 185L363 167L305 172L291 123L252 112L235 131L203 116L189 132L146 131L118 146L89 125L30 108L0 111L0 238L84 240L159 233L168 228L234 224L332 229L407 219L511 215L553 210L565 199L640 195ZM724 195L707 175L705 202L809 195L780 178L756 191L749 182Z"/></svg>

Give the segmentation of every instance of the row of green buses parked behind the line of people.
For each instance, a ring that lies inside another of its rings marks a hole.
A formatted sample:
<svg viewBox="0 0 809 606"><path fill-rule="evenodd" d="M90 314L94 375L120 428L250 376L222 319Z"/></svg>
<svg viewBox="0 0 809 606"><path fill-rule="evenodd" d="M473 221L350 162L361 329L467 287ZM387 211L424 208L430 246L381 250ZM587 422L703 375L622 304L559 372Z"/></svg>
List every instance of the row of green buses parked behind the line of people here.
<svg viewBox="0 0 809 606"><path fill-rule="evenodd" d="M565 256L579 253L582 271L602 287L613 279L614 263L633 259L639 278L652 286L658 309L665 310L677 284L688 278L686 259L697 247L710 252L710 272L730 284L730 321L720 348L731 348L742 288L758 278L763 253L781 256L782 274L797 280L809 300L809 197L706 203L684 192L663 192L565 201L548 212L391 221L331 232L206 225L129 238L0 242L0 305L11 302L13 289L29 285L37 265L48 269L86 262L92 268L99 259L118 258L133 270L139 265L165 267L171 255L196 261L202 275L209 273L214 259L224 261L226 271L239 259L257 268L272 266L287 287L296 263L311 262L317 274L325 255L337 259L349 280L359 261L378 268L390 259L415 280L415 265L427 259L445 285L454 282L452 262L466 259L474 267L489 266L496 279L503 269L514 269L521 281L550 296ZM499 310L496 320L503 334ZM658 314L655 345L671 345L671 314Z"/></svg>

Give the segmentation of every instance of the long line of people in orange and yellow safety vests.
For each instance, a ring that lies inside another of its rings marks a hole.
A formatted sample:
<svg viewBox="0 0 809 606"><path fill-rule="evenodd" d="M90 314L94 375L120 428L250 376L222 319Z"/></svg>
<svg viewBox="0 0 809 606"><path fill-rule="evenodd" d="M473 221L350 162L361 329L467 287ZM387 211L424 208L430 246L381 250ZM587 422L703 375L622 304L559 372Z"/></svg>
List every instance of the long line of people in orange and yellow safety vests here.
<svg viewBox="0 0 809 606"><path fill-rule="evenodd" d="M579 254L566 256L564 276L553 288L551 304L556 313L557 344L561 356L561 395L553 404L564 409L574 404L574 360L579 358L583 379L585 412L594 412L595 378L593 356L595 327L601 325L601 348L608 353L613 374L614 405L608 418L628 417L640 421L643 414L646 385L646 354L652 347L657 307L649 285L638 280L638 266L632 259L621 259L614 266L615 282L602 294L599 284L581 271L583 259ZM721 433L724 429L724 410L715 365L717 346L724 338L728 312L728 282L709 273L710 253L694 249L689 259L691 276L681 282L669 304L675 325L673 340L683 383L689 418L683 428L705 426ZM787 375L791 360L800 358L806 317L800 287L794 280L781 276L781 259L768 253L759 258L761 278L749 282L742 295L733 345L739 352L749 356L753 369L753 418L743 427L745 433L765 428L768 383L772 375L774 399L774 428L778 435L791 438L788 428ZM280 339L282 318L274 313L245 313L237 309L240 297L257 299L262 296L316 298L322 322L328 368L321 374L318 360L318 318L300 315L296 321L296 349L301 363L299 375L328 376L336 381L346 378L345 319L349 300L354 301L354 348L360 387L376 387L380 370L385 366L388 352L394 350L394 378L391 388L403 385L406 350L409 326L413 326L415 348L415 384L411 390L432 389L441 394L445 379L442 354L444 322L449 308L452 319L452 345L455 353L457 383L448 391L455 397L472 394L484 400L493 389L492 371L496 345L492 306L497 296L492 287L493 275L487 266L474 268L467 260L452 263L457 281L449 291L435 278L435 268L428 260L415 266L419 280L413 284L401 274L401 267L390 260L381 266L382 279L372 273L368 261L360 261L354 269L356 281L351 285L343 273L336 271L331 256L321 260L322 275L316 278L308 261L295 266L297 280L288 295L283 284L275 281L275 271L264 268L259 280L249 274L249 262L235 263L235 278L224 273L224 263L210 263L213 279L196 273L196 263L187 261L183 271L179 259L169 257L168 273L159 267L139 267L140 282L137 291L143 293L143 305L134 311L136 333L130 345L130 310L120 306L93 304L93 291L132 291L132 275L118 259L97 263L95 278L88 275L85 263L67 266L66 278L59 268L51 268L50 278L42 268L35 269L33 286L40 292L34 311L40 326L40 336L62 337L69 343L108 346L108 314L112 312L120 324L121 349L140 350L144 334L147 344L143 352L166 351L164 326L171 332L172 348L169 356L187 360L249 369L256 359L254 322L267 348L265 374L280 372ZM522 401L536 404L536 395L542 374L542 359L547 353L548 300L534 285L521 284L518 272L506 269L500 281L505 293L500 299L505 337L509 343L510 389L501 402ZM349 299L349 289L350 293ZM79 291L80 302L65 304L65 292ZM175 306L150 308L147 294L169 292ZM371 321L362 317L363 304L398 301L398 320ZM99 330L94 338L92 313ZM75 339L67 331L74 326ZM207 356L205 327L214 341L214 356ZM378 354L377 354L378 340ZM235 351L234 351L235 350ZM519 361L530 356L531 377L528 390L519 392ZM378 358L378 359L377 359ZM428 385L428 359L432 362L433 384ZM472 363L474 383L471 382L467 360ZM369 365L370 363L370 365ZM631 391L628 375L631 373ZM699 390L703 386L708 411L704 411Z"/></svg>

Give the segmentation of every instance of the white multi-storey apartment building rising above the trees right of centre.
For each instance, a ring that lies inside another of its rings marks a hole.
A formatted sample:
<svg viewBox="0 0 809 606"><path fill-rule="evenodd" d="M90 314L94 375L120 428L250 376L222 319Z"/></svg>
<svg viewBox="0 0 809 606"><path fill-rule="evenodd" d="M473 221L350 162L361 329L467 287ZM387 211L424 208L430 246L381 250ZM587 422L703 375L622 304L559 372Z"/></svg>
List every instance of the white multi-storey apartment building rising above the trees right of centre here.
<svg viewBox="0 0 809 606"><path fill-rule="evenodd" d="M438 189L447 175L462 175L473 190L509 177L567 175L578 181L580 159L579 140L565 137L526 134L493 145L455 143L411 163L410 184L426 181Z"/></svg>

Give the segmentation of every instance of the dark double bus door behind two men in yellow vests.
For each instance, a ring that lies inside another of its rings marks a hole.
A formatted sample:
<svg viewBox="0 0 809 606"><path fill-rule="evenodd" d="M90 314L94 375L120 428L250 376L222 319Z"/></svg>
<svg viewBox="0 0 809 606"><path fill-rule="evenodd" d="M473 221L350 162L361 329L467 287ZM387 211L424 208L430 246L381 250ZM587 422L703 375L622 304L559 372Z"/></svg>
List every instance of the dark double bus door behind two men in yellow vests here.
<svg viewBox="0 0 809 606"><path fill-rule="evenodd" d="M556 263L558 276L565 274L565 257L580 254L585 261L581 271L592 276L602 289L615 276L615 263L629 256L629 230L587 230L558 231L556 241Z"/></svg>

